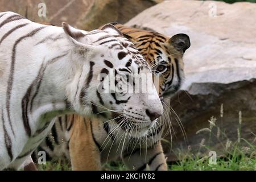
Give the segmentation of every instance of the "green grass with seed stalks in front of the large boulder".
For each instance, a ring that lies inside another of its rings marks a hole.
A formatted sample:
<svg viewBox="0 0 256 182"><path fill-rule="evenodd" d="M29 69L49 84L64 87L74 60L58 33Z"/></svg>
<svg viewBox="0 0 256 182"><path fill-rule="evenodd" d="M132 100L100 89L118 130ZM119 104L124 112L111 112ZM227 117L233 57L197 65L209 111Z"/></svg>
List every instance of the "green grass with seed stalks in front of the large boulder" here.
<svg viewBox="0 0 256 182"><path fill-rule="evenodd" d="M223 117L223 106L220 111L221 118ZM217 119L211 117L209 119L209 128L201 129L201 131L209 131L209 139L216 137L217 139L222 137L226 139L224 147L225 155L218 157L216 164L209 164L209 157L204 156L203 158L199 155L192 153L185 154L181 157L177 155L179 161L176 164L170 165L171 170L200 170L200 171L256 171L256 145L255 141L249 142L241 136L242 126L242 112L238 113L238 127L237 127L237 140L231 141L225 135L225 131L222 131L217 126ZM213 129L216 129L218 134L214 134ZM199 131L198 131L199 132ZM256 137L256 135L254 135ZM209 143L210 140L209 140ZM211 151L211 147L205 144L200 144L200 149Z"/></svg>

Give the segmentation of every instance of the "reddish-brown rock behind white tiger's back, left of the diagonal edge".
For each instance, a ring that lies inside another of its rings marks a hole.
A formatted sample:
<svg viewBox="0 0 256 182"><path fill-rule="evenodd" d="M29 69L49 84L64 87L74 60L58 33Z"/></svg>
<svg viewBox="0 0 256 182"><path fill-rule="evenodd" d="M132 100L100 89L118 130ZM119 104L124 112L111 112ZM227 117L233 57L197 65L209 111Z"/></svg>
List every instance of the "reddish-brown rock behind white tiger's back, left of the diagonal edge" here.
<svg viewBox="0 0 256 182"><path fill-rule="evenodd" d="M0 11L14 11L35 22L50 23L61 26L61 22L68 22L72 26L84 17L94 0L1 0ZM46 16L39 17L38 11L41 6L46 5Z"/></svg>

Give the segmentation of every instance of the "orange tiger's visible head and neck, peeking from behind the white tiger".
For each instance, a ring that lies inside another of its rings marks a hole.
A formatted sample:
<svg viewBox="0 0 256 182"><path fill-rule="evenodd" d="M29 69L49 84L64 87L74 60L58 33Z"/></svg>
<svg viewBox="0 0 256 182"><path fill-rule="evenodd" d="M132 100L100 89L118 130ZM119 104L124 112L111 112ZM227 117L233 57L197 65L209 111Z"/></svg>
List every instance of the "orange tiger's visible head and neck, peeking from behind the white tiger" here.
<svg viewBox="0 0 256 182"><path fill-rule="evenodd" d="M177 34L169 38L157 32L114 25L150 64L160 99L176 93L184 79L183 54L190 47L188 35Z"/></svg>

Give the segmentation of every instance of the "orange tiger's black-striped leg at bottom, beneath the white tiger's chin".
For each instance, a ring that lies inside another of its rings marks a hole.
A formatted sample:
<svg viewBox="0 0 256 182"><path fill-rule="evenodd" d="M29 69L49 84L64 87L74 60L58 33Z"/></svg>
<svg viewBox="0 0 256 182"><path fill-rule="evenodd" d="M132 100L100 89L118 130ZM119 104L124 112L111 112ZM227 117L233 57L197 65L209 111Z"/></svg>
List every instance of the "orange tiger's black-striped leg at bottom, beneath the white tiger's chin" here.
<svg viewBox="0 0 256 182"><path fill-rule="evenodd" d="M168 169L161 142L149 148L137 148L122 156L126 166L135 171L166 171ZM149 168L148 168L149 167Z"/></svg>

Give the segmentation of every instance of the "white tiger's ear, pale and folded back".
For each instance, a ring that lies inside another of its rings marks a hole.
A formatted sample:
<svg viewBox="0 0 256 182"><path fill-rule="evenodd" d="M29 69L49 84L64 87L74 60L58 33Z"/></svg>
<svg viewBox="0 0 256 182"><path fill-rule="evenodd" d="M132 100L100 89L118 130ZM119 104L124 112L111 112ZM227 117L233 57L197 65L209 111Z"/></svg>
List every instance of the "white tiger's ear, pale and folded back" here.
<svg viewBox="0 0 256 182"><path fill-rule="evenodd" d="M85 39L86 34L79 29L71 27L68 23L62 23L63 30L68 36L69 40L75 45L75 48L84 55L84 52L92 52L95 47L89 45L88 39Z"/></svg>

